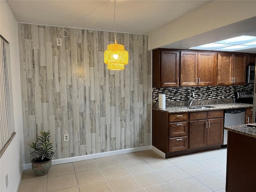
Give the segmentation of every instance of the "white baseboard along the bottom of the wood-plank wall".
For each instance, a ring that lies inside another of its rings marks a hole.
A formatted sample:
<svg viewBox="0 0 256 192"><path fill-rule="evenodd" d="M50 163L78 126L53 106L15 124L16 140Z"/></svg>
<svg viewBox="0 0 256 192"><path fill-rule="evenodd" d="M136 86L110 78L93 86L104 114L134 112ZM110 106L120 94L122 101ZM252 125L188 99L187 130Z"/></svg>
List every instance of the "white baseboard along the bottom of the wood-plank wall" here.
<svg viewBox="0 0 256 192"><path fill-rule="evenodd" d="M62 163L70 163L70 162L76 162L76 161L82 161L82 160L88 160L88 159L94 159L94 158L100 158L100 157L107 157L107 156L112 156L112 155L120 155L120 154L124 154L124 153L132 153L132 152L137 152L137 151L150 150L150 149L152 149L152 147L153 146L149 145L149 146L143 146L143 147L136 147L136 148L121 149L121 150L95 153L95 154L89 154L89 155L82 155L82 156L77 156L77 157L54 159L54 160L52 160L52 165L57 165L57 164L62 164ZM24 164L24 170L25 169L31 169L31 163Z"/></svg>

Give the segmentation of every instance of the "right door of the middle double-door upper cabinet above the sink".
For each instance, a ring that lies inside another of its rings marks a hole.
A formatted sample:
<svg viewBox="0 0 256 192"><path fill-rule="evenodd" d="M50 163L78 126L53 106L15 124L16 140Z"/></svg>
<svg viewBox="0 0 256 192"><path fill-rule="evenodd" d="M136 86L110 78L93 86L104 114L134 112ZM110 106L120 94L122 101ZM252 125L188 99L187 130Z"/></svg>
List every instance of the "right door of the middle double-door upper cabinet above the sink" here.
<svg viewBox="0 0 256 192"><path fill-rule="evenodd" d="M198 52L198 85L212 86L214 84L214 53Z"/></svg>

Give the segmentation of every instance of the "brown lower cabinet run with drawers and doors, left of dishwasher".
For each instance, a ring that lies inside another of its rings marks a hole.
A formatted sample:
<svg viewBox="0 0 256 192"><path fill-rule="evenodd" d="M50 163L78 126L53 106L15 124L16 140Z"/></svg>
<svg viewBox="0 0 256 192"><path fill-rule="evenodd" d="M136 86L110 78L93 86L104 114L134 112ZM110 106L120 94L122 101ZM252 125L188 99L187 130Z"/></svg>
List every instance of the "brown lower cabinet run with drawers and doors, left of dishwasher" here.
<svg viewBox="0 0 256 192"><path fill-rule="evenodd" d="M168 113L153 109L152 146L164 152L166 158L219 149L223 143L223 114L223 110Z"/></svg>

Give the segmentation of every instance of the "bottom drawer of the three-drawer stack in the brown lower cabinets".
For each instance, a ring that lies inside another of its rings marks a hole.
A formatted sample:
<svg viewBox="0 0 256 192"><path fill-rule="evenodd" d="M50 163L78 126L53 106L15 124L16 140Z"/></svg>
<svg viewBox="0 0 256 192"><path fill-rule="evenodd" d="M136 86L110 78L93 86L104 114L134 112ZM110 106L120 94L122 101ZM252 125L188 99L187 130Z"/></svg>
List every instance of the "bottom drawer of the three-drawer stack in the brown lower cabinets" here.
<svg viewBox="0 0 256 192"><path fill-rule="evenodd" d="M176 137L169 139L169 152L188 149L188 137Z"/></svg>

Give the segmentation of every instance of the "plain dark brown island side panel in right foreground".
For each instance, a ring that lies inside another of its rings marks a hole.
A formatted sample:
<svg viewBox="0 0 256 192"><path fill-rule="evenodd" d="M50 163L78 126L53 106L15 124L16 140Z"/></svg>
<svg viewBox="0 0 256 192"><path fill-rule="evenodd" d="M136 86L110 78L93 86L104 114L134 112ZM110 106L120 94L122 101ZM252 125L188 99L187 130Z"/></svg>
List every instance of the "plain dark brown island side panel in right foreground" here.
<svg viewBox="0 0 256 192"><path fill-rule="evenodd" d="M226 192L256 191L256 138L228 131Z"/></svg>

